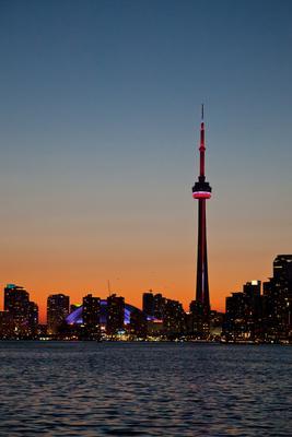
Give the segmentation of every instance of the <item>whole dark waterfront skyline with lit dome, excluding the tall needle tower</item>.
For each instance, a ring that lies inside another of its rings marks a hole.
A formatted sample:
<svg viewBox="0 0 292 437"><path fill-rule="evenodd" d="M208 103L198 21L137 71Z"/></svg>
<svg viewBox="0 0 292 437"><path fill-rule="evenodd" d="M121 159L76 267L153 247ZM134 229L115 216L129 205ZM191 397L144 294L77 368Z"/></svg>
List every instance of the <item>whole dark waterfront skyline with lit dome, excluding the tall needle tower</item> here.
<svg viewBox="0 0 292 437"><path fill-rule="evenodd" d="M56 340L208 340L292 343L292 255L278 255L273 275L264 283L247 282L226 297L225 315L196 299L185 312L178 300L152 291L143 294L143 310L112 294L107 299L87 294L83 305L69 296L50 295L47 323L38 324L38 307L21 286L4 288L0 339ZM208 316L208 317L207 317ZM48 328L48 329L46 329ZM222 330L222 332L221 332Z"/></svg>

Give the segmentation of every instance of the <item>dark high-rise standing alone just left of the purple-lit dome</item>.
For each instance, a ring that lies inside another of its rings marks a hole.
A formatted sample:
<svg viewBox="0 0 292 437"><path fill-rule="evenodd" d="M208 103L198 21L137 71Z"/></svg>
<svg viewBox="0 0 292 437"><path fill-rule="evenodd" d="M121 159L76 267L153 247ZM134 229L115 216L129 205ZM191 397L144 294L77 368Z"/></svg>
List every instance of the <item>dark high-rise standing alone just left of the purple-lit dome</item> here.
<svg viewBox="0 0 292 437"><path fill-rule="evenodd" d="M48 333L57 334L69 314L70 297L63 294L51 294L47 299Z"/></svg>

